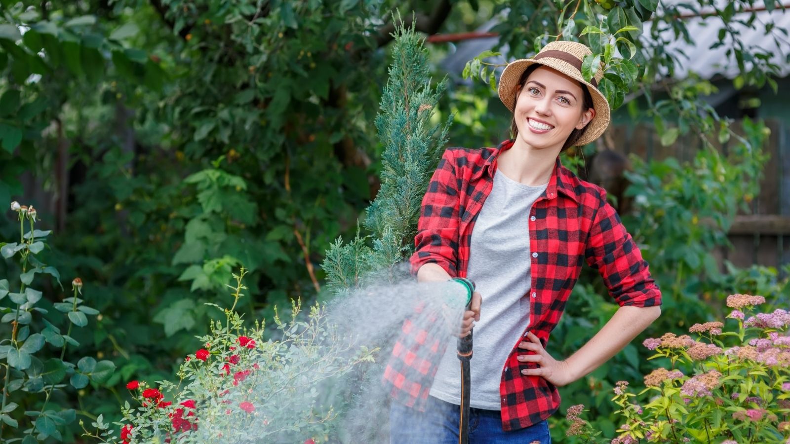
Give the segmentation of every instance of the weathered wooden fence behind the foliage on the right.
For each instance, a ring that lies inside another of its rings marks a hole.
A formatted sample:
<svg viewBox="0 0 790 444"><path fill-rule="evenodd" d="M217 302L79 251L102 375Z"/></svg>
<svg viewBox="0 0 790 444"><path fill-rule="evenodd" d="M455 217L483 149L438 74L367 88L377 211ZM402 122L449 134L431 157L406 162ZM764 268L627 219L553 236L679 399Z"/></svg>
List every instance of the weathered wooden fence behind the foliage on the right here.
<svg viewBox="0 0 790 444"><path fill-rule="evenodd" d="M751 213L735 218L729 239L732 249L717 252L739 267L753 264L781 267L790 263L790 122L766 120L771 136L764 147L769 160L763 171L760 193L751 202ZM733 127L737 131L739 122ZM701 142L694 135L679 137L671 146L660 144L660 135L653 126L613 126L610 130L619 152L635 154L645 160L662 160L675 156L680 161L692 160ZM730 141L728 143L734 143ZM728 144L721 148L727 152Z"/></svg>

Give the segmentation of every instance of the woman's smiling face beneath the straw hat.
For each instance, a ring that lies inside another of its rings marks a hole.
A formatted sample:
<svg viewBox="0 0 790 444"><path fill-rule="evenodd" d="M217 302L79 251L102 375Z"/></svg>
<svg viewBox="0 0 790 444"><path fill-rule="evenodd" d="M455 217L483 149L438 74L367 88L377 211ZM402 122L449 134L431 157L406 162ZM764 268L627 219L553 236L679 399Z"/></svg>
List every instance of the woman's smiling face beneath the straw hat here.
<svg viewBox="0 0 790 444"><path fill-rule="evenodd" d="M562 149L574 130L581 130L595 116L584 111L584 92L578 81L557 70L540 66L517 92L513 117L518 128L517 143L532 149Z"/></svg>

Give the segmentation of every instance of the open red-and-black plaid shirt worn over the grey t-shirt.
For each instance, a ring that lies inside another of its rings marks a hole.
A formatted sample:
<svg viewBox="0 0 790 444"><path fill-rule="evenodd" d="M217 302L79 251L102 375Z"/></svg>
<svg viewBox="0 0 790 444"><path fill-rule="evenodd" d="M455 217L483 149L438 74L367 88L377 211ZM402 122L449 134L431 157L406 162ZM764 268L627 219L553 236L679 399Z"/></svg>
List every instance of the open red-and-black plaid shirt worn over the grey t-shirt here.
<svg viewBox="0 0 790 444"><path fill-rule="evenodd" d="M413 274L422 265L435 263L452 277L466 277L472 229L491 192L498 153L512 146L513 141L504 141L496 149L453 148L444 152L423 198L416 251L410 259ZM585 260L604 277L609 294L621 307L660 305L661 294L648 265L608 204L606 192L578 179L562 167L559 158L546 191L532 205L529 216L532 287L524 297L531 303L529 329L544 348ZM423 410L448 344L427 337L415 325L419 323L404 322L384 382L397 401ZM525 325L524 334L526 331ZM540 376L521 374L525 368L538 367L517 360L521 354L532 353L517 348L521 341L521 337L513 338L510 356L502 364L499 393L505 431L529 427L559 408L557 387Z"/></svg>

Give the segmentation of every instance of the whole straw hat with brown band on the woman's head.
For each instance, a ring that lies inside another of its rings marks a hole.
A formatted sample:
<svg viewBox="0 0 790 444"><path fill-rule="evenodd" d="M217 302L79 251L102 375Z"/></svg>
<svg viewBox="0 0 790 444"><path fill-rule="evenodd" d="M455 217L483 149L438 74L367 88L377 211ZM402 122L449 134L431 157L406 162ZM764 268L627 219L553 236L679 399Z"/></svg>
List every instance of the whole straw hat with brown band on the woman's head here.
<svg viewBox="0 0 790 444"><path fill-rule="evenodd" d="M513 107L516 105L516 88L521 74L534 63L548 66L580 81L587 85L590 96L592 96L595 117L587 124L585 133L581 135L575 145L588 144L604 134L604 130L609 126L611 115L606 97L598 90L598 82L604 78L604 71L599 67L591 82L585 81L581 75L581 62L584 61L585 55L589 54L592 54L592 51L583 43L565 41L548 43L535 57L514 60L505 66L502 76L499 77L499 99L505 103L507 109L513 111Z"/></svg>

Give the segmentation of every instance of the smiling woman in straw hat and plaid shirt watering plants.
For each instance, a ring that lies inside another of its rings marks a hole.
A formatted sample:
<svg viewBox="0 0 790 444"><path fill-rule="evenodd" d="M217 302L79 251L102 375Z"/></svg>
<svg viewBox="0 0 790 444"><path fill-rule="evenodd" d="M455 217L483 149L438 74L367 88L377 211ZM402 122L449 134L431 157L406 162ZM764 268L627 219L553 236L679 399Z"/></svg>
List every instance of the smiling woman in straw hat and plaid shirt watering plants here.
<svg viewBox="0 0 790 444"><path fill-rule="evenodd" d="M412 273L420 282L476 283L461 325L461 336L475 327L470 442L551 442L546 419L559 408L557 387L595 370L660 314L648 265L605 191L559 161L560 152L594 141L609 123L597 88L603 72L589 82L581 75L589 54L581 43L552 42L506 66L498 91L513 112L514 138L496 149L447 149L423 198ZM582 261L599 270L620 307L573 356L558 360L547 342ZM419 370L413 352L396 347L386 369L390 440L457 442L454 347L422 356Z"/></svg>

